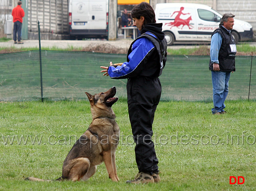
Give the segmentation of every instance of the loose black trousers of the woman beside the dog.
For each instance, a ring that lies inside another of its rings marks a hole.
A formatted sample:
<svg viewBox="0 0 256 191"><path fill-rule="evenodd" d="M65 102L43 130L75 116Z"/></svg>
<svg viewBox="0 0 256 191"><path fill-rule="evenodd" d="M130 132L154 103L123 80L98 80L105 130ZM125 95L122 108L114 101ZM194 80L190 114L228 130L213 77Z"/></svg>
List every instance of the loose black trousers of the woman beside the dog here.
<svg viewBox="0 0 256 191"><path fill-rule="evenodd" d="M158 159L151 137L153 136L152 124L155 110L161 97L159 78L128 79L127 97L139 172L150 174L158 172Z"/></svg>

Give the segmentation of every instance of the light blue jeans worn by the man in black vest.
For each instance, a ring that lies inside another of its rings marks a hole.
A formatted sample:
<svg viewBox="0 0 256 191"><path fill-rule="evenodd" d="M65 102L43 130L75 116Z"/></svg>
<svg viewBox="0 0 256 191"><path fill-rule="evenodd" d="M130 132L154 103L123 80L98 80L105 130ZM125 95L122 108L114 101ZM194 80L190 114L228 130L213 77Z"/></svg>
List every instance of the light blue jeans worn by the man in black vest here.
<svg viewBox="0 0 256 191"><path fill-rule="evenodd" d="M212 113L222 112L226 107L224 101L228 95L228 80L230 72L212 71L212 97L213 106Z"/></svg>

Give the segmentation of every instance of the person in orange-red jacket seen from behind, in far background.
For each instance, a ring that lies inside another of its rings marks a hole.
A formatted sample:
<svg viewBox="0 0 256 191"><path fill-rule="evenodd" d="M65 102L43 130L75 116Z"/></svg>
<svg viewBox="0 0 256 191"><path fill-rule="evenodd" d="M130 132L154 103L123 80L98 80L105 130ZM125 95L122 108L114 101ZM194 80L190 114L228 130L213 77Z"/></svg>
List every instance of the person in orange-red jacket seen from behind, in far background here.
<svg viewBox="0 0 256 191"><path fill-rule="evenodd" d="M25 16L25 12L22 9L22 2L19 1L18 5L12 10L13 17L13 40L14 44L17 44L17 34L18 34L18 44L23 44L21 40L21 27L22 27L22 18Z"/></svg>

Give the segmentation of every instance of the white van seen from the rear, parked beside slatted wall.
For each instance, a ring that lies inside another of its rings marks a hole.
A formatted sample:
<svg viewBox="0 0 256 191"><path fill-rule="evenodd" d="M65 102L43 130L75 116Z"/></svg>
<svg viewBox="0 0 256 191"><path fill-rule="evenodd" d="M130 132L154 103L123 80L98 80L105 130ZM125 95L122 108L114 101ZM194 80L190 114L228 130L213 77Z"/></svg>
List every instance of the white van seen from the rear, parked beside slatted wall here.
<svg viewBox="0 0 256 191"><path fill-rule="evenodd" d="M69 0L70 38L107 38L108 10L108 0Z"/></svg>

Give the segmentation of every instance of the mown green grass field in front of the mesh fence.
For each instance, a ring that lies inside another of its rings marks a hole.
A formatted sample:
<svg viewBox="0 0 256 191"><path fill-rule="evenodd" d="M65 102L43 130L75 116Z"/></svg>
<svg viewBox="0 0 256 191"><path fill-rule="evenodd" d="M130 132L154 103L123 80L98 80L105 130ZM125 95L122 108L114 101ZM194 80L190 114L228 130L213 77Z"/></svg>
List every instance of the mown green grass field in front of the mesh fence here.
<svg viewBox="0 0 256 191"><path fill-rule="evenodd" d="M126 101L120 98L113 105L121 130L116 152L118 183L108 178L104 164L86 182L24 181L28 176L61 176L67 153L91 123L89 102L0 103L0 190L256 189L255 101L226 101L224 115L211 114L211 101L161 101L153 140L162 181L148 185L125 183L137 174ZM230 176L243 176L244 184L230 185Z"/></svg>

